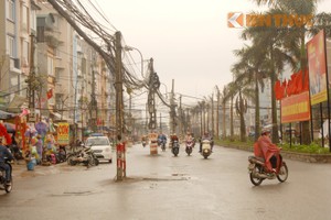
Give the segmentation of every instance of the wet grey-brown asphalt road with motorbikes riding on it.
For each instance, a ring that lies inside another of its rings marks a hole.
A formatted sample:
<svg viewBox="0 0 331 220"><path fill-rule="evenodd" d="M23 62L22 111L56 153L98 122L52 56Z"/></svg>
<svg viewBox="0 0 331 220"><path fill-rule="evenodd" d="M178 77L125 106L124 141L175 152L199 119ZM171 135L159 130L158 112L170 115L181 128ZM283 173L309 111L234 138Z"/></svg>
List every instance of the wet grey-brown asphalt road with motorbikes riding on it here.
<svg viewBox="0 0 331 220"><path fill-rule="evenodd" d="M135 145L121 183L114 180L115 163L17 172L12 193L0 191L0 219L331 219L331 164L286 161L286 183L255 187L249 152L215 146L204 160L196 151L151 156L149 147Z"/></svg>

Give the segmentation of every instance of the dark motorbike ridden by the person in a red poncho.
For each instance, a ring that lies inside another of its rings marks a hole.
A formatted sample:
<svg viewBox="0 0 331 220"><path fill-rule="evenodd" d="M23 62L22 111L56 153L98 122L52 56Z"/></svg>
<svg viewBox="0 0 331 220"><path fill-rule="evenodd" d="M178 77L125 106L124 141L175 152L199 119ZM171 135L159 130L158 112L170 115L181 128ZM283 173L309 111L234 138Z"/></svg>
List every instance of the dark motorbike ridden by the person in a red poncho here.
<svg viewBox="0 0 331 220"><path fill-rule="evenodd" d="M288 167L282 161L282 157L279 156L280 162L279 167L276 168L276 172L268 172L265 160L257 156L248 156L248 173L249 178L253 185L259 186L265 179L275 179L277 178L280 183L286 182L288 177Z"/></svg>

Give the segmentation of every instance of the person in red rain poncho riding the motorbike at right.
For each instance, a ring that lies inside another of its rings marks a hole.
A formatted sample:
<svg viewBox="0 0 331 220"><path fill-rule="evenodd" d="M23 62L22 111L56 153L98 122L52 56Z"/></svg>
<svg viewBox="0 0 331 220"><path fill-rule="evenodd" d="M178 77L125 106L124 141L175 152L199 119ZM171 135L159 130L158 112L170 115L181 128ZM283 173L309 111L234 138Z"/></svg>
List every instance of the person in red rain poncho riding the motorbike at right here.
<svg viewBox="0 0 331 220"><path fill-rule="evenodd" d="M270 131L264 129L257 142L254 144L254 154L257 157L263 157L265 160L266 167L268 172L276 172L278 163L280 162L280 147L273 144L270 140Z"/></svg>

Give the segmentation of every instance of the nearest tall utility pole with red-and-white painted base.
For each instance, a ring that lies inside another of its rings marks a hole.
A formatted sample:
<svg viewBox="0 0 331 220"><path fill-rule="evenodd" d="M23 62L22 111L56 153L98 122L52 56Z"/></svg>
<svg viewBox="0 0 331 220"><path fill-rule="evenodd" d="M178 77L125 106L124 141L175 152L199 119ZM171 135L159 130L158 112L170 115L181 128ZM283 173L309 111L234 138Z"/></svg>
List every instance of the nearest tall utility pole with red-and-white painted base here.
<svg viewBox="0 0 331 220"><path fill-rule="evenodd" d="M120 144L124 135L124 100L122 100L122 63L121 63L121 33L115 33L115 88L116 88L116 134L117 144ZM121 166L121 161L125 161L125 151L116 151L117 153L117 180L122 180L125 169Z"/></svg>

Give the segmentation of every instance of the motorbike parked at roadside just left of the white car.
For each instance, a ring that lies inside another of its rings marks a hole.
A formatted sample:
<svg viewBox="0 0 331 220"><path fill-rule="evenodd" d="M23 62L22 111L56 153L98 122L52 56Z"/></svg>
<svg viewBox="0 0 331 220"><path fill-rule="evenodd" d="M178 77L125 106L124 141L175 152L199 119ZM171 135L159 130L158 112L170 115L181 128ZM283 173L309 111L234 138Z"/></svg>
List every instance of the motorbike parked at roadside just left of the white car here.
<svg viewBox="0 0 331 220"><path fill-rule="evenodd" d="M83 146L76 152L68 153L66 161L68 165L75 166L82 163L87 166L87 168L99 165L99 160L96 157L90 146Z"/></svg>

